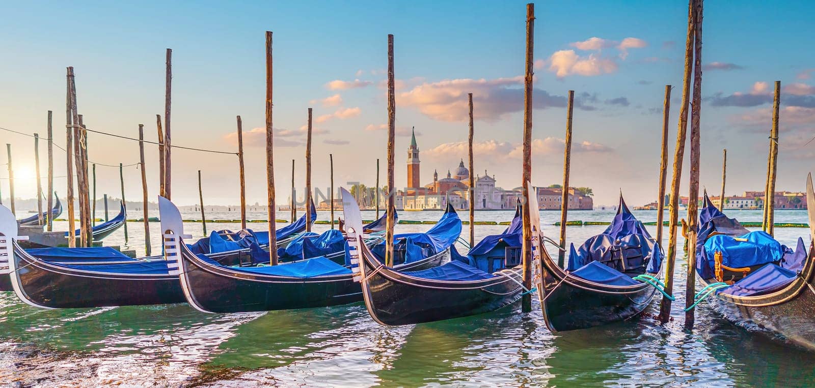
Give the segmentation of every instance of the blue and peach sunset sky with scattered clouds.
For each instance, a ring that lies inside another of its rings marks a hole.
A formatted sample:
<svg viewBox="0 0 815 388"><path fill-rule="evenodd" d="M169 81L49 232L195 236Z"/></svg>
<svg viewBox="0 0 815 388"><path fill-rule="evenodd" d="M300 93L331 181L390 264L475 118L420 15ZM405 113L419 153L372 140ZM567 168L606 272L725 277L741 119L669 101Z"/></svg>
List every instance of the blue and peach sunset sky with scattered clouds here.
<svg viewBox="0 0 815 388"><path fill-rule="evenodd" d="M266 200L265 31L274 33L275 180L288 203L292 159L305 186L306 110L314 108L313 185L385 185L387 34L394 34L395 181L407 181L416 129L421 181L467 156L467 94L474 94L475 172L521 185L526 2L2 2L0 127L46 137L54 111L64 146L65 68L89 129L156 140L164 114L165 49L173 49L173 144L236 151L243 119L247 202ZM703 20L701 185L718 194L722 149L727 194L763 190L773 82L781 81L778 190L803 191L815 169L815 3L707 2ZM658 196L665 85L673 85L669 155L676 144L686 2L535 3L533 185L562 181L566 94L575 90L571 185L596 205L622 190L632 206ZM139 161L136 142L89 134L89 158ZM15 194L36 195L33 139L0 131L14 156ZM6 163L0 152L0 163ZM41 168L45 176L45 146ZM174 149L173 198L239 203L235 155ZM148 191L158 192L156 146L147 145ZM55 190L65 192L55 149ZM689 154L681 190L687 194ZM669 163L672 163L669 161ZM0 190L8 196L7 166ZM670 180L670 168L668 179ZM126 197L140 198L136 167ZM97 167L97 191L120 196L118 168ZM153 199L152 199L153 200Z"/></svg>

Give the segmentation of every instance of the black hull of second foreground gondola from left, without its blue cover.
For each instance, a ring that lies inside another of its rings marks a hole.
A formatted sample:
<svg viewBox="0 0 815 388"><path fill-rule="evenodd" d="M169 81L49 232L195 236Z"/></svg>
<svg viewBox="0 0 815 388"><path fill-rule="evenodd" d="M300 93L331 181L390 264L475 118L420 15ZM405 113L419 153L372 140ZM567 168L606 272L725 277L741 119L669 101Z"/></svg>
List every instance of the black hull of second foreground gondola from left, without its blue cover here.
<svg viewBox="0 0 815 388"><path fill-rule="evenodd" d="M337 306L363 300L359 283L353 281L350 274L311 279L271 277L202 263L186 248L181 256L187 299L205 312L263 312ZM444 251L403 268L415 271L436 267L448 258L449 253Z"/></svg>

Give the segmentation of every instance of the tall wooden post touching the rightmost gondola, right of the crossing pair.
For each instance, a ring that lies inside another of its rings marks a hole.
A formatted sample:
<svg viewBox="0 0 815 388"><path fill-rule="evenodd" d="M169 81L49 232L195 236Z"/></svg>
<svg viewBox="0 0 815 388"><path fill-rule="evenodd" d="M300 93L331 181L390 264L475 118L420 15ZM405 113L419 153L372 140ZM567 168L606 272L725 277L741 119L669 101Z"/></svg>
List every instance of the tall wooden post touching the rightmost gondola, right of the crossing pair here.
<svg viewBox="0 0 815 388"><path fill-rule="evenodd" d="M702 109L702 17L704 0L694 4L694 98L690 106L690 185L688 194L688 277L685 281L685 327L694 325L696 298L696 239L698 233L699 198L699 119Z"/></svg>

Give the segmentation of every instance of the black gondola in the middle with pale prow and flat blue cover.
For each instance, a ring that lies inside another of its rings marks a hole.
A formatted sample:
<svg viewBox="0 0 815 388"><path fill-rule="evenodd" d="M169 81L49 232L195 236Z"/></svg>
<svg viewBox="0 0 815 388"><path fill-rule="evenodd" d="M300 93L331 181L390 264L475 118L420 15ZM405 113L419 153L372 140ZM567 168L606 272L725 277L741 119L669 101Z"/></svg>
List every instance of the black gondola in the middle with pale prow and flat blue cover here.
<svg viewBox="0 0 815 388"><path fill-rule="evenodd" d="M521 269L483 271L457 256L438 268L397 271L382 264L360 244L362 220L354 196L341 190L355 280L362 285L365 306L381 325L412 325L491 312L522 294ZM447 205L450 206L449 203Z"/></svg>

